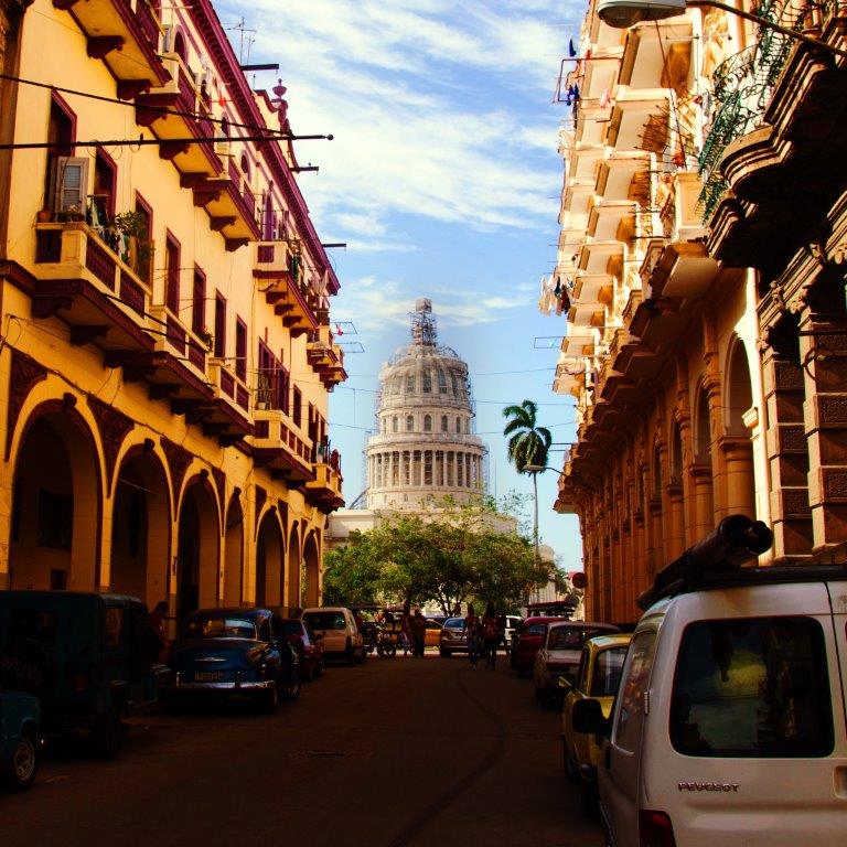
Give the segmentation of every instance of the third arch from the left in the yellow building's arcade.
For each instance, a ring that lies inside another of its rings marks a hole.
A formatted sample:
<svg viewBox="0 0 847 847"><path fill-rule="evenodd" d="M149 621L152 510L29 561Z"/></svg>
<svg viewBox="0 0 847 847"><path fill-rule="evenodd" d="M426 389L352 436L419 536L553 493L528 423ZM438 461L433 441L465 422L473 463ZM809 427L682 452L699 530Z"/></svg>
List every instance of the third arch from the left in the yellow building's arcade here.
<svg viewBox="0 0 847 847"><path fill-rule="evenodd" d="M183 489L176 535L176 617L218 603L221 518L207 473Z"/></svg>

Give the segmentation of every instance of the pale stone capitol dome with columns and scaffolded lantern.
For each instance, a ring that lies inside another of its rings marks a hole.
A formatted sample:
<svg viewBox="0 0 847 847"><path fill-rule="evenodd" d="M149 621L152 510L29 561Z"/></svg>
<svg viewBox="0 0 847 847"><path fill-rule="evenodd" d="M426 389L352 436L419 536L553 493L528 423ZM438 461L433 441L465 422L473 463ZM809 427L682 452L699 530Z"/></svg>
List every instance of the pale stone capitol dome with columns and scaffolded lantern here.
<svg viewBox="0 0 847 847"><path fill-rule="evenodd" d="M367 507L418 508L486 491L487 449L474 433L468 365L438 344L432 303L416 302L411 344L379 373L378 435L367 442Z"/></svg>

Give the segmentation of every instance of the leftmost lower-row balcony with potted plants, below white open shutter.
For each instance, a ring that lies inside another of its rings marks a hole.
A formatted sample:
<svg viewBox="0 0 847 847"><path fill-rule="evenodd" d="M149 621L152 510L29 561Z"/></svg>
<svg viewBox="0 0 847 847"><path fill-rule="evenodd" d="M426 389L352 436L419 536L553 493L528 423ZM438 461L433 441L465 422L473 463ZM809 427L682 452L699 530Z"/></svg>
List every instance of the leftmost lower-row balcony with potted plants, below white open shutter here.
<svg viewBox="0 0 847 847"><path fill-rule="evenodd" d="M34 317L61 317L72 344L152 350L149 286L87 224L36 224L34 259Z"/></svg>

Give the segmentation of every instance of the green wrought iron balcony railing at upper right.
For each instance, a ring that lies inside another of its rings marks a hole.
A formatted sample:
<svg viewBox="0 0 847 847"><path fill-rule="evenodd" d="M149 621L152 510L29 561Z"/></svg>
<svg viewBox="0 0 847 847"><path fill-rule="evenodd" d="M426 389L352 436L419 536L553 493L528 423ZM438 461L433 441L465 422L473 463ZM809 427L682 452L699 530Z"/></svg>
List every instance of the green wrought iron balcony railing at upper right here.
<svg viewBox="0 0 847 847"><path fill-rule="evenodd" d="M763 0L755 13L763 20L800 31L812 8L797 9L791 6L791 0ZM727 189L719 169L723 151L762 122L773 87L795 43L789 35L762 26L754 44L715 68L712 96L716 106L698 160L704 181L699 203L705 221L711 216Z"/></svg>

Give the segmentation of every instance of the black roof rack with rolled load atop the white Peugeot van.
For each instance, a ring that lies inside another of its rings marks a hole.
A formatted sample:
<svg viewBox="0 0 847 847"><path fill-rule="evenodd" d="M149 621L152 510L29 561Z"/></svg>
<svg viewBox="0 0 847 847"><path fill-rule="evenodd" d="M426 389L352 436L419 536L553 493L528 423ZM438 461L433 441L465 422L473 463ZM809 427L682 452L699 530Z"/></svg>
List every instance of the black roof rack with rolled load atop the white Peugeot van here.
<svg viewBox="0 0 847 847"><path fill-rule="evenodd" d="M656 573L653 586L639 597L639 608L646 611L664 598L709 588L847 579L845 565L814 560L742 567L771 544L773 534L761 521L751 521L746 515L725 517L710 535Z"/></svg>

